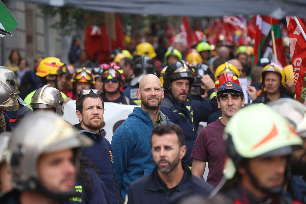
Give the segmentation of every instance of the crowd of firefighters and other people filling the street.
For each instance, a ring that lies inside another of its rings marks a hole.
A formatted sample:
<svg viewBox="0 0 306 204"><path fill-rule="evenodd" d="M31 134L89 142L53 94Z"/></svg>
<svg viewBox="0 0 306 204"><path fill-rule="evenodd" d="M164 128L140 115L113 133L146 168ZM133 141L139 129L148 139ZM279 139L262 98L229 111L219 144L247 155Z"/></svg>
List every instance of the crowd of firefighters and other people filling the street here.
<svg viewBox="0 0 306 204"><path fill-rule="evenodd" d="M68 64L39 56L29 69L12 50L0 67L0 203L306 203L290 60L253 66L249 45L175 41L97 65L81 42ZM62 119L69 100L78 124ZM135 106L111 141L104 102Z"/></svg>

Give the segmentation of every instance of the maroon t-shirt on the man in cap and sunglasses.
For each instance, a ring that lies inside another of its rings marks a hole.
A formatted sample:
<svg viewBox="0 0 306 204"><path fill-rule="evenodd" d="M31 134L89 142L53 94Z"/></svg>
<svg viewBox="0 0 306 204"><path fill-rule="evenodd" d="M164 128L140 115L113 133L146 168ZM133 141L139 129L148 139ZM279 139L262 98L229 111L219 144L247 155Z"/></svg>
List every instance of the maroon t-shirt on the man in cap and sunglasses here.
<svg viewBox="0 0 306 204"><path fill-rule="evenodd" d="M223 166L226 157L226 148L223 141L225 125L221 119L216 120L202 128L191 157L208 162L207 182L216 187L223 176Z"/></svg>

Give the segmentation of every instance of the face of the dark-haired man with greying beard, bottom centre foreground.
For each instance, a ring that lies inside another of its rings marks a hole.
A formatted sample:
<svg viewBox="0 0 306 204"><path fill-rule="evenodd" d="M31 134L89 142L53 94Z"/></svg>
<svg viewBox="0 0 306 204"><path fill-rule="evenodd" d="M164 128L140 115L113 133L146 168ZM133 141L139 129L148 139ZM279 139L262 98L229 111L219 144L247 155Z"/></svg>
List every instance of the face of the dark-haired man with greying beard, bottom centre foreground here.
<svg viewBox="0 0 306 204"><path fill-rule="evenodd" d="M186 153L186 146L180 146L176 133L152 135L152 155L160 173L168 174L181 164Z"/></svg>

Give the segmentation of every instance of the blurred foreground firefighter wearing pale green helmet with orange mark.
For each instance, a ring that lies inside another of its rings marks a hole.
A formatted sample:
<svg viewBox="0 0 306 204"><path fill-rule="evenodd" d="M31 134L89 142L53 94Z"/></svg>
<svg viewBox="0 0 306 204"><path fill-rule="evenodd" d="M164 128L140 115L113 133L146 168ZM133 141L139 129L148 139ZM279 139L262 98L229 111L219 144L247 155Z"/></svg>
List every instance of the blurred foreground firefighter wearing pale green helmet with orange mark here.
<svg viewBox="0 0 306 204"><path fill-rule="evenodd" d="M284 187L291 174L289 157L302 139L282 115L266 105L249 105L231 117L223 139L225 179L215 191L222 187L234 204L300 203Z"/></svg>

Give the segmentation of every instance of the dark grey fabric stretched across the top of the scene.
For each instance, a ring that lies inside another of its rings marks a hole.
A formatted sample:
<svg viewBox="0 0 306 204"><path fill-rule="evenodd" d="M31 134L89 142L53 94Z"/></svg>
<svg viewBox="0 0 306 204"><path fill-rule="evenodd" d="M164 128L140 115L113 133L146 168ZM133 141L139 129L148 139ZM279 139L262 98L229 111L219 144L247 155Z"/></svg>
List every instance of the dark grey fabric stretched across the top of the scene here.
<svg viewBox="0 0 306 204"><path fill-rule="evenodd" d="M50 6L71 6L101 12L193 17L286 15L306 17L305 0L22 0Z"/></svg>

